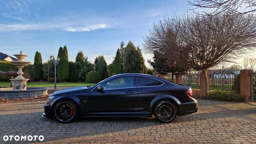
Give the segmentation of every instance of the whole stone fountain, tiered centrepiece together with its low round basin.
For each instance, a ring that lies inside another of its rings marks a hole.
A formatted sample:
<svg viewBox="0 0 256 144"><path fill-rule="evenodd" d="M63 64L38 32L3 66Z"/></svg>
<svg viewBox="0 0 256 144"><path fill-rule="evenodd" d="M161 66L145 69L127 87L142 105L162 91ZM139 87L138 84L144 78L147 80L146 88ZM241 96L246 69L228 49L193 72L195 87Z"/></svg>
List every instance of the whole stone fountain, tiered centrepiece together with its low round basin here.
<svg viewBox="0 0 256 144"><path fill-rule="evenodd" d="M18 76L14 79L10 79L12 81L12 87L0 88L0 97L4 97L7 95L8 99L21 99L34 97L37 95L47 95L48 88L47 87L27 87L27 81L29 79L24 78L22 68L26 67L30 64L29 61L23 61L23 59L27 56L24 55L21 51L20 54L14 54L14 56L18 59L17 61L10 61L14 66L19 68L17 72Z"/></svg>

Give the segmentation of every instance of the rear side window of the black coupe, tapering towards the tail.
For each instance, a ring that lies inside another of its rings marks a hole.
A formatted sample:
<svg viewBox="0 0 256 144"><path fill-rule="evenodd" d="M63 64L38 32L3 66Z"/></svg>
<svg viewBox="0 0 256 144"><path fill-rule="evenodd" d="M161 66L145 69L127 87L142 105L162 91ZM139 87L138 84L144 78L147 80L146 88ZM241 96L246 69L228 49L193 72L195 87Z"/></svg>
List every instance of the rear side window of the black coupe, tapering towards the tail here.
<svg viewBox="0 0 256 144"><path fill-rule="evenodd" d="M137 87L141 86L158 86L163 84L161 81L158 81L153 78L145 77L145 76L138 76L138 84Z"/></svg>

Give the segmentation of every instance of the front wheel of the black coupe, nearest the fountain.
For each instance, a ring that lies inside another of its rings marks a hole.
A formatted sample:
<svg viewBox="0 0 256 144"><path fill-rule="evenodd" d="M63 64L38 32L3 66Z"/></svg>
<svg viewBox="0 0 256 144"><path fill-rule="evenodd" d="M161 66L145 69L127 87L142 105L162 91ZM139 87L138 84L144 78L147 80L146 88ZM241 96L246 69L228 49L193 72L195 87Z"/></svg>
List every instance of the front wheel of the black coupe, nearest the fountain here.
<svg viewBox="0 0 256 144"><path fill-rule="evenodd" d="M78 108L70 100L61 100L54 106L53 114L60 123L70 123L77 118Z"/></svg>

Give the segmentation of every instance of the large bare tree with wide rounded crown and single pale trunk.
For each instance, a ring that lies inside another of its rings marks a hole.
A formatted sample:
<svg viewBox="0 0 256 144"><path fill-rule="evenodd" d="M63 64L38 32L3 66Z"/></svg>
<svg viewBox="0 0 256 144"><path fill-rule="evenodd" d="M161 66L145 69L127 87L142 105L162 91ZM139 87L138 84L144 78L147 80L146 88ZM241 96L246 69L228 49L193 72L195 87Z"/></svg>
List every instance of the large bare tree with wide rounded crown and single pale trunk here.
<svg viewBox="0 0 256 144"><path fill-rule="evenodd" d="M163 25L163 26L162 26ZM158 27L155 29L154 27ZM166 43L159 35L162 28L174 29L176 43ZM159 31L157 31L159 29ZM173 15L164 22L153 25L153 30L144 38L145 52L158 50L170 60L177 59L196 71L202 70L204 92L208 92L207 69L221 63L233 62L235 57L256 46L256 21L252 16L227 16L221 13L201 17ZM181 57L178 59L177 57Z"/></svg>

